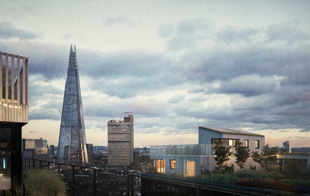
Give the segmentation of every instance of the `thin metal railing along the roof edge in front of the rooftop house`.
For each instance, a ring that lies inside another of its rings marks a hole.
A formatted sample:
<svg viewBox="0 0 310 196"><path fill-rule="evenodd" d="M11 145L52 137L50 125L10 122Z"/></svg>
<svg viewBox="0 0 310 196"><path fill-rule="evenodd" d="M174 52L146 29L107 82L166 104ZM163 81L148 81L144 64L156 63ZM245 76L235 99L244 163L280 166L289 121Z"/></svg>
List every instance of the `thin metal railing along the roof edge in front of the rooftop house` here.
<svg viewBox="0 0 310 196"><path fill-rule="evenodd" d="M159 170L158 170L159 169ZM165 173L157 172L165 171ZM208 170L171 169L170 167L154 168L146 171L149 174L163 175L174 178L185 178L202 182L220 183L226 185L246 186L249 188L270 189L299 194L310 194L309 177L296 178L289 175L263 175L253 173L231 173Z"/></svg>

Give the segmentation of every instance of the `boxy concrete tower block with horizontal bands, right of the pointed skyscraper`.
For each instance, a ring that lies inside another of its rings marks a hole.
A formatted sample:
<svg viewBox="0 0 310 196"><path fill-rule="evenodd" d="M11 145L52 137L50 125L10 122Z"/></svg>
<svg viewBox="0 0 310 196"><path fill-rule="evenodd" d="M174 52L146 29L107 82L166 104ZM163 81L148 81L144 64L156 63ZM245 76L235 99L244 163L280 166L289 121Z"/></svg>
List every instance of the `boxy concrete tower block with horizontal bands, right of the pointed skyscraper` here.
<svg viewBox="0 0 310 196"><path fill-rule="evenodd" d="M127 113L127 112L126 112ZM133 162L133 113L127 113L123 121L108 122L108 166L129 166Z"/></svg>

